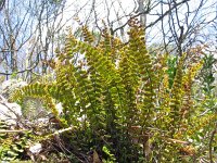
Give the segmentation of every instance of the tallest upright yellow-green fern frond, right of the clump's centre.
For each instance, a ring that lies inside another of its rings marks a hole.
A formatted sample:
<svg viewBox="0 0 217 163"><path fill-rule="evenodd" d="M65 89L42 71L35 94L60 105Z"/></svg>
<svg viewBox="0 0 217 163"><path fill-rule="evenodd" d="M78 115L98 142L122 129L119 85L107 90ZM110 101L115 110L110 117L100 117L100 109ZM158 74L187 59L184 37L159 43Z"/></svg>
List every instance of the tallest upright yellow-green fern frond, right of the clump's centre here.
<svg viewBox="0 0 217 163"><path fill-rule="evenodd" d="M143 28L140 27L137 22L131 23L131 29L129 35L129 50L133 53L136 58L136 63L138 65L138 74L140 74L140 89L142 101L142 120L145 124L154 112L154 74L152 68L151 58L144 46ZM145 125L144 125L145 126Z"/></svg>

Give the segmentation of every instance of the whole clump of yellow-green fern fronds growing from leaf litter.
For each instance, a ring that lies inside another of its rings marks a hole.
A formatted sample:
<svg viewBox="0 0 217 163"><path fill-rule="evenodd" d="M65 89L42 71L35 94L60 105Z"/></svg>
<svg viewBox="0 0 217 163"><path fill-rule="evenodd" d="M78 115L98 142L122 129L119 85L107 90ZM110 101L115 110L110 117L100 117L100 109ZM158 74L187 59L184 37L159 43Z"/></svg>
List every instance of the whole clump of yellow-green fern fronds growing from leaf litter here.
<svg viewBox="0 0 217 163"><path fill-rule="evenodd" d="M56 50L55 79L26 86L12 99L43 99L62 127L76 128L62 138L79 159L91 151L108 162L180 162L183 153L193 159L196 149L187 142L195 129L191 124L200 121L192 87L202 62L187 66L183 54L171 66L168 54L148 52L137 20L129 26L127 43L106 28L98 45L86 26L84 40L69 30L65 48Z"/></svg>

